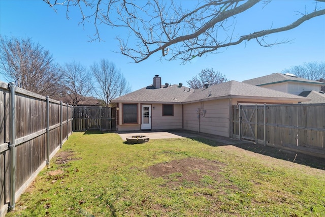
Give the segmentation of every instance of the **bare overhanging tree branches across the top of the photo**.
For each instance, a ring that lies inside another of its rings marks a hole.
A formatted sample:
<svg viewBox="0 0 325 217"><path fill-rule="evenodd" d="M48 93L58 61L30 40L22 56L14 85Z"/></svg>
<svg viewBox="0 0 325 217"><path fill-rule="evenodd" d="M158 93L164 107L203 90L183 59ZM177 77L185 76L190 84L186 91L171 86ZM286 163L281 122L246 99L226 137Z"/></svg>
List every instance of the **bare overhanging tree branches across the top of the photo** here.
<svg viewBox="0 0 325 217"><path fill-rule="evenodd" d="M155 53L158 53L160 58L181 59L185 63L194 57L215 53L220 48L238 45L251 39L256 39L259 45L266 47L289 43L290 40L266 42L265 37L296 28L311 18L325 15L325 9L318 6L325 0L314 0L312 11L308 12L303 8L304 12L297 12L300 18L291 23L281 27L267 27L270 24L266 23L266 29L261 30L254 30L250 23L247 23L247 32L237 33L237 15L258 5L264 4L263 7L267 7L272 0L206 0L198 1L198 5L193 8L182 6L181 1L163 0L43 1L50 7L66 6L67 17L69 8L78 7L82 16L81 23L89 21L95 25L93 40L101 40L99 24L126 28L129 35L125 38L117 37L120 52L131 57L135 63Z"/></svg>

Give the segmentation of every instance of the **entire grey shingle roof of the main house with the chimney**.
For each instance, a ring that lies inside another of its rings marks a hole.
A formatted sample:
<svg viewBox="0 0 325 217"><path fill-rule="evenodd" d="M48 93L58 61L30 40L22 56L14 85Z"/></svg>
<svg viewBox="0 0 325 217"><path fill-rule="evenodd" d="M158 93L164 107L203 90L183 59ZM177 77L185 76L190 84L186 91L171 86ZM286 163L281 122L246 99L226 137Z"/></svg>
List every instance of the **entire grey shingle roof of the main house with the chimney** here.
<svg viewBox="0 0 325 217"><path fill-rule="evenodd" d="M154 89L152 86L148 86L113 99L111 102L177 104L229 98L309 101L307 98L287 94L286 92L258 87L238 81L228 81L201 89L189 89L188 87L179 87L177 85L169 87L163 86L162 88Z"/></svg>

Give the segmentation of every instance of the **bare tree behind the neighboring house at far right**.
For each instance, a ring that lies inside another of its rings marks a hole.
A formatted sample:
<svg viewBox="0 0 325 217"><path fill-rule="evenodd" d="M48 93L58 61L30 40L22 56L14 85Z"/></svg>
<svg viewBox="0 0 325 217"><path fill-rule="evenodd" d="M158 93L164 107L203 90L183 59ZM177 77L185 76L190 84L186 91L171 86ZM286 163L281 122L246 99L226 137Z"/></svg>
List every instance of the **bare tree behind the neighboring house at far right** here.
<svg viewBox="0 0 325 217"><path fill-rule="evenodd" d="M317 63L304 63L300 66L293 66L289 69L283 70L281 73L294 74L300 78L306 78L309 80L325 82L325 62ZM321 87L321 91L325 91L325 86Z"/></svg>

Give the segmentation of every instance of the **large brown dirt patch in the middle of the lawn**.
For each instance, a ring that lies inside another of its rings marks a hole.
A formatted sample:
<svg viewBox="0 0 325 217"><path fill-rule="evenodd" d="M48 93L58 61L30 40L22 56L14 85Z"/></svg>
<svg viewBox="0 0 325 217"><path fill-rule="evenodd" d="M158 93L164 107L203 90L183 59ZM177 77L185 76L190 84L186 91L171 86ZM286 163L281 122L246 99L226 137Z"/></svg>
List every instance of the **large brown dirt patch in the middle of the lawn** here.
<svg viewBox="0 0 325 217"><path fill-rule="evenodd" d="M168 185L182 185L193 183L196 186L207 185L209 182L225 181L220 175L225 165L199 158L185 158L167 163L160 163L148 168L147 172L154 177L168 179Z"/></svg>

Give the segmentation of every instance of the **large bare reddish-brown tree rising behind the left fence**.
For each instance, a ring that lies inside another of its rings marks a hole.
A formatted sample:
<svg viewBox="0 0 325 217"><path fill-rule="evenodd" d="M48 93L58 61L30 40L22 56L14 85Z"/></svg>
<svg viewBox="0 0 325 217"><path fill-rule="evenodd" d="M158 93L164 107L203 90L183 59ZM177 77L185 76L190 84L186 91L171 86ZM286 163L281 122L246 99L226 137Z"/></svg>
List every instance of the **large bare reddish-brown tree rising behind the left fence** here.
<svg viewBox="0 0 325 217"><path fill-rule="evenodd" d="M52 55L28 39L0 36L0 69L8 81L43 96L61 96L61 74Z"/></svg>

